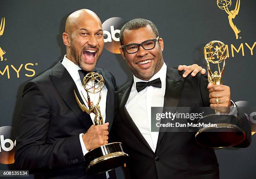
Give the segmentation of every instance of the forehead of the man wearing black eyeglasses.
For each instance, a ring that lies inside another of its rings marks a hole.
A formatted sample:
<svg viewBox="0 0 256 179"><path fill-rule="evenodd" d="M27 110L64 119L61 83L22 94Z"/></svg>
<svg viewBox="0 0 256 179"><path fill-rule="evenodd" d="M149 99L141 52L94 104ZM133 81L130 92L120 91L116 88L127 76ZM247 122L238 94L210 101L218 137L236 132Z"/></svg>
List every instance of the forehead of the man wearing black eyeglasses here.
<svg viewBox="0 0 256 179"><path fill-rule="evenodd" d="M152 28L148 25L144 28L137 30L125 30L123 33L123 44L129 43L142 43L145 40L156 38L156 34Z"/></svg>

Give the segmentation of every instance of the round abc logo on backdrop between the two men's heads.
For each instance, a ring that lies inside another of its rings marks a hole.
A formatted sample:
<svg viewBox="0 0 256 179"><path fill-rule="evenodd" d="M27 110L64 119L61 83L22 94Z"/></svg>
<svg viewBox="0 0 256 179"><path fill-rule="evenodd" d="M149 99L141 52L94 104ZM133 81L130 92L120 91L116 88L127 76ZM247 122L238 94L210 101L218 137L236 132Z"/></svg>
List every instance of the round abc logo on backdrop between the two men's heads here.
<svg viewBox="0 0 256 179"><path fill-rule="evenodd" d="M124 24L124 20L118 17L109 18L102 24L105 42L104 47L108 51L112 53L120 53L119 33Z"/></svg>

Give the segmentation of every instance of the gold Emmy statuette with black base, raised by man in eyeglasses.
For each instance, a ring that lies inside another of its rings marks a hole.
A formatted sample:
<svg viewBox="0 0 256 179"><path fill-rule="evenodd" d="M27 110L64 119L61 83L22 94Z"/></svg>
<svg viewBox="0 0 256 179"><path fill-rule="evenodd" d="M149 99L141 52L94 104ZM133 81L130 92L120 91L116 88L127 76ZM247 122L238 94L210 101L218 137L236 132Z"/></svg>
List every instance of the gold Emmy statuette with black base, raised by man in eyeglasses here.
<svg viewBox="0 0 256 179"><path fill-rule="evenodd" d="M222 84L221 78L227 58L226 45L217 40L211 41L205 45L204 54L208 81L215 85ZM217 64L218 71L212 73L210 63ZM220 63L223 63L222 68L220 68ZM218 104L218 98L216 101ZM215 109L215 114L204 116L198 121L198 123L216 124L217 127L199 127L199 131L195 135L197 143L212 148L223 148L241 143L245 139L245 132L240 127L240 119L231 114L223 114L218 109Z"/></svg>

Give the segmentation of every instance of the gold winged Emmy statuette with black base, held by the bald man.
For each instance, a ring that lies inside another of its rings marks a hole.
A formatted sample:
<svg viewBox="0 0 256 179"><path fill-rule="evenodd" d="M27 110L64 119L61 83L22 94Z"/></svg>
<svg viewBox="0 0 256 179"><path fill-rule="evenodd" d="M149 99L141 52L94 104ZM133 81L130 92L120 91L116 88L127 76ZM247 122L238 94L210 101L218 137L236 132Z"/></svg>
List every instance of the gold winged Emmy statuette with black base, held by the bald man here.
<svg viewBox="0 0 256 179"><path fill-rule="evenodd" d="M84 96L83 97L88 108L79 101L77 94L74 91L77 104L83 112L95 114L95 125L102 125L103 119L100 113L99 103L101 90L104 87L104 78L99 73L90 72L83 78L82 84L87 92L87 99ZM89 93L99 93L99 98L96 103L94 103L95 101L91 101ZM123 151L123 147L120 142L113 142L90 150L85 154L84 159L87 163L86 172L88 174L97 174L115 169L118 166L125 164L128 161L129 156Z"/></svg>

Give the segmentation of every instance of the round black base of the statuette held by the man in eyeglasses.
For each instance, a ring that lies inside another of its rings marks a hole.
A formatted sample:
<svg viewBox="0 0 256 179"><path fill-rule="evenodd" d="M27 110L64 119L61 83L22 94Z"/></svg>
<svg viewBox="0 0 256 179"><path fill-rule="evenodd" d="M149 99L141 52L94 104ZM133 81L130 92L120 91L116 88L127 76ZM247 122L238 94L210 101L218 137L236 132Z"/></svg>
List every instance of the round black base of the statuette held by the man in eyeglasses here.
<svg viewBox="0 0 256 179"><path fill-rule="evenodd" d="M210 114L201 118L198 123L216 124L217 127L199 127L195 135L198 144L211 148L224 148L241 143L245 132L241 129L241 121L230 114Z"/></svg>

